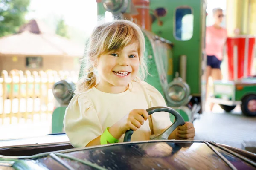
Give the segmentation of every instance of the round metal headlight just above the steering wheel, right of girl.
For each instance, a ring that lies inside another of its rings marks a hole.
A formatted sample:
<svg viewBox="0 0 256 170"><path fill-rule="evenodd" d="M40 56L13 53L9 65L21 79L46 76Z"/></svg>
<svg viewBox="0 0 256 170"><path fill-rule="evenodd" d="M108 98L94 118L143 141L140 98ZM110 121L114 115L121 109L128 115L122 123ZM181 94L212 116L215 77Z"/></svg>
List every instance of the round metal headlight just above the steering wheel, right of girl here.
<svg viewBox="0 0 256 170"><path fill-rule="evenodd" d="M189 85L180 77L174 78L166 89L166 98L172 106L186 105L191 98Z"/></svg>

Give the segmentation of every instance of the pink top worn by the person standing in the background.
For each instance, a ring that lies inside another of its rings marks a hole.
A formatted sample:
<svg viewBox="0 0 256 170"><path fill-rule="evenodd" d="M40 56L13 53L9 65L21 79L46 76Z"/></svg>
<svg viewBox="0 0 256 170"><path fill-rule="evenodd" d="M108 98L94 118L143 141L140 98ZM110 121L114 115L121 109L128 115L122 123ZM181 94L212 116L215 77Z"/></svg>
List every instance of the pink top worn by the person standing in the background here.
<svg viewBox="0 0 256 170"><path fill-rule="evenodd" d="M217 29L214 26L206 27L205 52L206 55L215 55L222 60L223 47L227 40L227 29Z"/></svg>

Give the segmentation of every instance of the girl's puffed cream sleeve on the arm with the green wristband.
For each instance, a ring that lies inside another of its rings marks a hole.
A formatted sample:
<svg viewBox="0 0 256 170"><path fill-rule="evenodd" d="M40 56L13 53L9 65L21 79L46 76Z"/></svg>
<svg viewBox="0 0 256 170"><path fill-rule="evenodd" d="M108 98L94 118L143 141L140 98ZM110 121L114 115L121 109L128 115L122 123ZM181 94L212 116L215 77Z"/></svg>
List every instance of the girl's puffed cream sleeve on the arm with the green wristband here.
<svg viewBox="0 0 256 170"><path fill-rule="evenodd" d="M90 141L103 133L96 110L86 94L72 98L65 111L63 123L73 147L86 147Z"/></svg>

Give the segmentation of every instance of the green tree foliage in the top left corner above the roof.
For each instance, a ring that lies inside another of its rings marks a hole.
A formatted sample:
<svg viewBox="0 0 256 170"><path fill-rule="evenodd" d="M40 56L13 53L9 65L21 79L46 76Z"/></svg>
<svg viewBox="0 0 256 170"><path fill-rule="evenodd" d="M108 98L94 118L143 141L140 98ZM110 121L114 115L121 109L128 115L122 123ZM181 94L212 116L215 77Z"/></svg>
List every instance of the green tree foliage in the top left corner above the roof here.
<svg viewBox="0 0 256 170"><path fill-rule="evenodd" d="M0 37L13 34L26 23L30 0L0 0Z"/></svg>

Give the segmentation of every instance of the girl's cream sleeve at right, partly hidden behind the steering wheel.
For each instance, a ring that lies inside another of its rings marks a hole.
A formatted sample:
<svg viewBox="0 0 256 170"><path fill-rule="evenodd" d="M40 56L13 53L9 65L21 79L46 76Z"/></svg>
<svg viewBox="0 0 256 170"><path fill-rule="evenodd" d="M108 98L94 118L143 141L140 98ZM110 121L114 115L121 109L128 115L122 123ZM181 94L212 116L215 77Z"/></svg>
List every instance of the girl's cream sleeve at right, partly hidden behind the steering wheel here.
<svg viewBox="0 0 256 170"><path fill-rule="evenodd" d="M162 94L154 86L151 86L146 82L143 82L142 84L145 87L149 97L149 108L156 106L166 107L166 101L164 100ZM152 122L151 128L153 130L153 134L160 134L166 130L167 127L172 125L168 112L153 113L151 115L151 120L149 121Z"/></svg>

